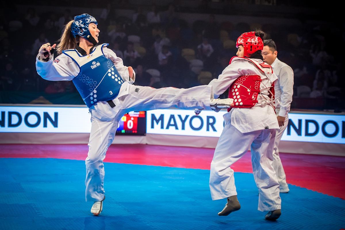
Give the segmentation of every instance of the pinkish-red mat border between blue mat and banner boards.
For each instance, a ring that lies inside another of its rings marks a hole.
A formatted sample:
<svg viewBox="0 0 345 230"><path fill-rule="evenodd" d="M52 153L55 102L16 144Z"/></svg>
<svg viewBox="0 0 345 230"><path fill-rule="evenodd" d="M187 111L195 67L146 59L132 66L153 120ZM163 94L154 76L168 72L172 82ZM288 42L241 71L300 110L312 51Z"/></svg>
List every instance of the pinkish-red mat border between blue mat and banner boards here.
<svg viewBox="0 0 345 230"><path fill-rule="evenodd" d="M1 144L1 158L59 158L85 160L86 144ZM113 144L105 162L210 169L214 149ZM289 184L345 199L345 157L280 153ZM232 167L252 173L250 153Z"/></svg>

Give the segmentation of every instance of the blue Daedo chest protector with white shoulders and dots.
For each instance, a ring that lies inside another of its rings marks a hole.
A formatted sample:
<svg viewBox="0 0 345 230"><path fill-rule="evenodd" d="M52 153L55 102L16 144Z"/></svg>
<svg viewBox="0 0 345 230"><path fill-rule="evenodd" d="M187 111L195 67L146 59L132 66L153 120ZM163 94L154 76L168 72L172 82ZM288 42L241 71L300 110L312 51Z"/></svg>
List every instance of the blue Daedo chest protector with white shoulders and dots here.
<svg viewBox="0 0 345 230"><path fill-rule="evenodd" d="M103 47L97 46L89 55L81 56L75 49L62 51L77 63L80 72L72 81L87 107L98 101L109 101L117 97L124 80L114 63L103 54Z"/></svg>

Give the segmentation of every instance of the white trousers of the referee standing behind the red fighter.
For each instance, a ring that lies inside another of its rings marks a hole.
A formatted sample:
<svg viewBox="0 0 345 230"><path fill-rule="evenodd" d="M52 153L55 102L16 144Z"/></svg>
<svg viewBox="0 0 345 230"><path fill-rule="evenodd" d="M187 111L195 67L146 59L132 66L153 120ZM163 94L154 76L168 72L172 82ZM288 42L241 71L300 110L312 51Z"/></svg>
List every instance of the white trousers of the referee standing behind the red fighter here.
<svg viewBox="0 0 345 230"><path fill-rule="evenodd" d="M277 110L276 113L278 114L279 110ZM286 175L284 172L283 164L279 157L278 146L279 146L280 139L282 139L283 133L287 127L288 122L289 122L289 116L287 115L285 117L284 126L281 126L280 130L276 131L276 139L275 139L274 148L273 148L273 164L272 165L273 165L274 170L276 171L279 186L282 189L287 189L288 185L286 183Z"/></svg>

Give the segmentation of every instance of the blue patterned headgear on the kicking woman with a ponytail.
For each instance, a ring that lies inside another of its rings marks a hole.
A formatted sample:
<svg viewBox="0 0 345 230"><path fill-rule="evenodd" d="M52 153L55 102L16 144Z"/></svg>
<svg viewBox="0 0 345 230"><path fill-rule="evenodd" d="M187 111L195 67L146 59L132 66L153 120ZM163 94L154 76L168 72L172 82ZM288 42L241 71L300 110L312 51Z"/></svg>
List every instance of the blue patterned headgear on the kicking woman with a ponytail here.
<svg viewBox="0 0 345 230"><path fill-rule="evenodd" d="M95 23L97 25L97 21L94 17L87 13L83 13L81 15L78 15L74 17L74 21L71 25L71 32L74 37L80 36L88 41L90 41L94 46L96 46L97 42L95 38L91 36L91 33L89 31L89 24Z"/></svg>

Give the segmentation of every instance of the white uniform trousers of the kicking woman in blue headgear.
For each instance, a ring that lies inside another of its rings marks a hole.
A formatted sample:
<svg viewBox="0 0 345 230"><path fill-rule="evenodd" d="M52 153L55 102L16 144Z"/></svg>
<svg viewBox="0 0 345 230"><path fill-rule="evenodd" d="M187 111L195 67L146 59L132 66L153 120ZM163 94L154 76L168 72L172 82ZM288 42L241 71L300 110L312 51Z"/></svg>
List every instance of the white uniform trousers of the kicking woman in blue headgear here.
<svg viewBox="0 0 345 230"><path fill-rule="evenodd" d="M100 201L104 197L103 160L108 147L114 140L118 122L125 113L171 107L210 110L211 98L213 98L211 86L197 86L189 89L173 87L154 89L125 82L121 86L119 96L112 100L116 105L114 108L111 108L107 102L98 102L90 109L92 124L88 144L89 152L85 160L86 201ZM193 113L193 111L191 112Z"/></svg>

